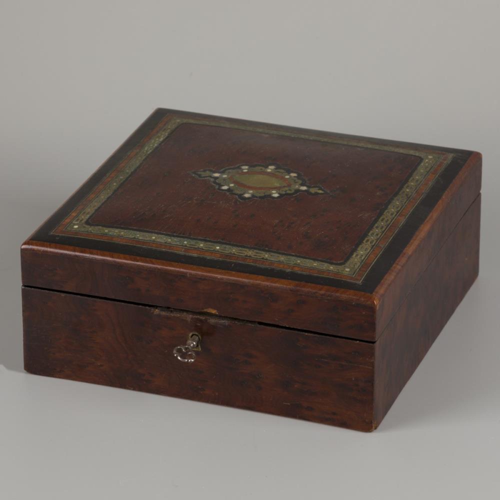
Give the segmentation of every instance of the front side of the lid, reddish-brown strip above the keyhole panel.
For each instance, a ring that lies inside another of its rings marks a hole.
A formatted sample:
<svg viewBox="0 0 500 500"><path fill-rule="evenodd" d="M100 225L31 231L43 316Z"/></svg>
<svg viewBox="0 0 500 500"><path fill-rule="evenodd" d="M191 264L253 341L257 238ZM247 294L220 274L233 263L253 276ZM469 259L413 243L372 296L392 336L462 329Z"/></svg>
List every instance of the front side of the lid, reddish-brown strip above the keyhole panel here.
<svg viewBox="0 0 500 500"><path fill-rule="evenodd" d="M21 248L22 283L372 340L372 296L353 290L256 278L132 256L29 242Z"/></svg>

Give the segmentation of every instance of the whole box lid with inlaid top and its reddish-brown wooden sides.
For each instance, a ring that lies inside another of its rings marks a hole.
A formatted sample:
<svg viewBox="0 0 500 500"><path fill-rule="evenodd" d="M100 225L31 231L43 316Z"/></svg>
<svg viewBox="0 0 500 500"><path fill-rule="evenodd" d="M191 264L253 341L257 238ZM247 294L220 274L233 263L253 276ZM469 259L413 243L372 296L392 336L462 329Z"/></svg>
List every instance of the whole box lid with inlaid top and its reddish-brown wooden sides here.
<svg viewBox="0 0 500 500"><path fill-rule="evenodd" d="M479 153L157 109L21 248L24 285L374 341Z"/></svg>

